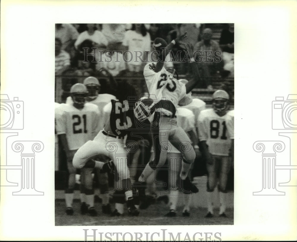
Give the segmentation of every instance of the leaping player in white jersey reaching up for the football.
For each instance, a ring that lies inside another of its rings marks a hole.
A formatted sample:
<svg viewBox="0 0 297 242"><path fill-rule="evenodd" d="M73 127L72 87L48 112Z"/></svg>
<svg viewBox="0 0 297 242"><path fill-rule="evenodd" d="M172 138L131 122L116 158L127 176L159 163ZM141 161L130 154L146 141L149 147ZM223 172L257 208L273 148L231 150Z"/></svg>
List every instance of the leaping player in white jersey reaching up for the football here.
<svg viewBox="0 0 297 242"><path fill-rule="evenodd" d="M155 152L154 161L151 161L143 170L143 173L139 177L139 181L144 181L149 177L149 175L154 171L163 166L167 153L162 152L159 149L159 143L174 140L174 145L177 149L183 144L183 141L190 142L189 137L184 132L181 127L176 124L176 108L178 106L179 100L183 99L187 93L189 93L195 86L200 76L198 73L198 68L194 62L193 57L191 57L190 62L193 65L193 70L195 72L194 78L190 80L186 85L182 82L176 80L171 73L169 73L163 66L165 57L169 51L173 48L175 44L183 44L181 40L186 37L186 33L173 40L167 45L166 41L161 38L156 38L154 40L154 46L156 51L160 51L160 61L152 62L144 67L143 75L146 80L146 84L150 94L154 94L157 98L156 103L159 103L159 107L156 108L155 117L158 118L158 128L159 132L164 133L164 135L158 135L157 139L155 137ZM186 45L186 50L189 52L190 56L192 54L192 48L189 44ZM156 104L157 105L157 104ZM151 110L148 110L151 113ZM136 115L138 117L138 115ZM159 141L158 141L159 139ZM189 180L188 172L191 167L192 162L195 159L195 151L191 149L189 152L183 152L183 162L180 178L182 180L182 186L184 191L198 192L198 188L195 187Z"/></svg>

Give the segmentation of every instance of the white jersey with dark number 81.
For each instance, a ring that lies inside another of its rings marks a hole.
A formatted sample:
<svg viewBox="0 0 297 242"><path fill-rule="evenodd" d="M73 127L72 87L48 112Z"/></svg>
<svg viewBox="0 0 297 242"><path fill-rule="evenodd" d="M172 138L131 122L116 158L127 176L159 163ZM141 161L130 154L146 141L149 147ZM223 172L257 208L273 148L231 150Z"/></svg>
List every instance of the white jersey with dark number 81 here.
<svg viewBox="0 0 297 242"><path fill-rule="evenodd" d="M198 136L200 141L206 141L209 153L229 155L234 119L228 113L220 117L213 109L203 110L198 117Z"/></svg>

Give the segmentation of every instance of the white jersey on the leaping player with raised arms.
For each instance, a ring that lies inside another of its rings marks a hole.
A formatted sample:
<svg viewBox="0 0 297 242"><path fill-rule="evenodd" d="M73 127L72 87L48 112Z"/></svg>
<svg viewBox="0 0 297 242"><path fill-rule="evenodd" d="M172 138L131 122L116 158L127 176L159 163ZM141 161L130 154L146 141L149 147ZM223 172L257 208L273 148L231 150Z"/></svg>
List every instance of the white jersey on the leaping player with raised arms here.
<svg viewBox="0 0 297 242"><path fill-rule="evenodd" d="M186 96L186 86L176 80L163 66L159 72L154 72L156 62L146 64L143 75L149 94L156 95L157 100L169 100L177 108L178 101Z"/></svg>

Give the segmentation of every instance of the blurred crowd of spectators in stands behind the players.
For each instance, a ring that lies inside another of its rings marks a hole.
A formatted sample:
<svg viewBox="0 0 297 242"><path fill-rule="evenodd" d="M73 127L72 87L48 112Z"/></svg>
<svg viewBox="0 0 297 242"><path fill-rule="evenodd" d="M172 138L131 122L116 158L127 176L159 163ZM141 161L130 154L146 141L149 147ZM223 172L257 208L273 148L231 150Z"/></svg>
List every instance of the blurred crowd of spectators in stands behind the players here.
<svg viewBox="0 0 297 242"><path fill-rule="evenodd" d="M100 70L105 68L115 78L143 78L143 67L146 62L152 61L150 53L154 51L154 39L161 37L170 43L171 40L185 32L187 32L187 38L184 41L190 43L194 51L200 51L200 53L201 51L202 53L221 51L221 61L199 63L202 82L197 88L213 90L215 83L225 81L230 81L234 85L234 24L228 23L57 23L55 32L56 77L95 76L100 78L104 76ZM84 48L87 48L87 61ZM139 51L139 57L143 62L135 62L135 55L125 56L130 60L125 61L122 56L125 51L132 53ZM181 62L180 59L172 58L172 55L177 54L178 51L182 52L178 48L173 48L171 56L167 56L165 68L174 69L179 78L190 79L192 71L189 65ZM107 56L110 61L100 61L106 59ZM183 57L181 56L181 59ZM77 80L80 82L79 78ZM69 86L74 84L73 82L75 79L72 79Z"/></svg>

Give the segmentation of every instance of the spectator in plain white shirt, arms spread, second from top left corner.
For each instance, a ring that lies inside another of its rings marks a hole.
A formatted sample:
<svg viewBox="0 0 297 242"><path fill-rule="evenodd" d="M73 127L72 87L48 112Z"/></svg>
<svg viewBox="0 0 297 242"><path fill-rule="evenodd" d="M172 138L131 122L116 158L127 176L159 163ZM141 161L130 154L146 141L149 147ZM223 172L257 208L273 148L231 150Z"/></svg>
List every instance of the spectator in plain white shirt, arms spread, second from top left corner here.
<svg viewBox="0 0 297 242"><path fill-rule="evenodd" d="M94 23L88 23L86 28L87 30L78 36L74 44L75 48L78 49L79 45L83 43L84 40L91 40L93 42L93 47L97 47L100 50L105 51L108 42L104 34L97 30Z"/></svg>

